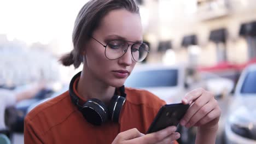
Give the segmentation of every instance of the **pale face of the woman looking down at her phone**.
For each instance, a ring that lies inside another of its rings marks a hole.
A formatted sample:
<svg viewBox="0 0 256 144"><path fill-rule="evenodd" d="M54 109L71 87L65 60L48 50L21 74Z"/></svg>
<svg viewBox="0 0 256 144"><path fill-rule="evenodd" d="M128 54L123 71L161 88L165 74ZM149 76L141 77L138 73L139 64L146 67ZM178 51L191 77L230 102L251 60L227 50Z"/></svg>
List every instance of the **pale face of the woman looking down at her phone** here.
<svg viewBox="0 0 256 144"><path fill-rule="evenodd" d="M110 40L142 42L142 25L139 14L125 9L112 10L101 20L92 37L106 45ZM136 62L131 55L131 46L124 56L110 60L105 56L105 47L94 39L85 45L84 69L92 79L107 86L120 87L130 75ZM133 43L129 43L133 44Z"/></svg>

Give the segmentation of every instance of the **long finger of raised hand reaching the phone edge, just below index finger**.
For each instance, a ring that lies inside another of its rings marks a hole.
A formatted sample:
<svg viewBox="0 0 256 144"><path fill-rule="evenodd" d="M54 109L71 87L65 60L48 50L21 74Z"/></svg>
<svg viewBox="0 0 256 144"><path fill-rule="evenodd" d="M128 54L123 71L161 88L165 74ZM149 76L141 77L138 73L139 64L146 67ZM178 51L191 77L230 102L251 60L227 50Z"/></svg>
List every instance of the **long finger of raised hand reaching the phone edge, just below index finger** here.
<svg viewBox="0 0 256 144"><path fill-rule="evenodd" d="M202 106L204 106L206 103L208 103L208 101L210 101L211 97L211 94L209 94L208 92L204 92L201 95L201 97L197 98L195 103L193 103L189 107L188 111L181 119L181 125L185 126L190 121L190 118L193 117L195 113L201 109Z"/></svg>

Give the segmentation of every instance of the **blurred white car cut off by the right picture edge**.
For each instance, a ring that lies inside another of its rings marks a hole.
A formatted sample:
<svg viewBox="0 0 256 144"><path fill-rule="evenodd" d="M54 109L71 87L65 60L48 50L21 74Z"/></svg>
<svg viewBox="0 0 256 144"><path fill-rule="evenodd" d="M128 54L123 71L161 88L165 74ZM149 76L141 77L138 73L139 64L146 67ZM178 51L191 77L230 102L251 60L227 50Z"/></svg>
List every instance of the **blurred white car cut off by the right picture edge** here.
<svg viewBox="0 0 256 144"><path fill-rule="evenodd" d="M243 70L225 123L226 143L256 143L256 64Z"/></svg>

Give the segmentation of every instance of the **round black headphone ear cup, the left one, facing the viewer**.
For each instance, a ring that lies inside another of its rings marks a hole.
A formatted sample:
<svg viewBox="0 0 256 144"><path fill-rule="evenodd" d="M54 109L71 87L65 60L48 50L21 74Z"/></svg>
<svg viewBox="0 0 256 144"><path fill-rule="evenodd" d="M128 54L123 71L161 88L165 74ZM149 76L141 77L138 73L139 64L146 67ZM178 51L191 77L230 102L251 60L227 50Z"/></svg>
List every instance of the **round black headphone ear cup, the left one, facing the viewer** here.
<svg viewBox="0 0 256 144"><path fill-rule="evenodd" d="M80 111L83 113L84 118L94 125L101 125L108 118L106 106L98 99L89 99Z"/></svg>

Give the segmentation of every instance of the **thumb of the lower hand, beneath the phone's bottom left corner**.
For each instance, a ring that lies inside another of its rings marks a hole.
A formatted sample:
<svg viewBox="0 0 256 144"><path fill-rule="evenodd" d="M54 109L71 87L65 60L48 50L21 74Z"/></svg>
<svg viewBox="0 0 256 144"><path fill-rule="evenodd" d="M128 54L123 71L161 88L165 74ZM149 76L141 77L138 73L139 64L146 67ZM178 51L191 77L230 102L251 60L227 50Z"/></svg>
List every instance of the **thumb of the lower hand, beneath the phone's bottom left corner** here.
<svg viewBox="0 0 256 144"><path fill-rule="evenodd" d="M121 140L131 140L135 139L136 137L141 137L143 135L144 134L140 133L136 128L129 129L118 134L119 139Z"/></svg>

